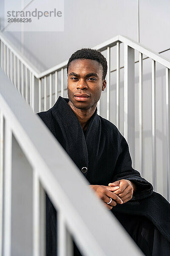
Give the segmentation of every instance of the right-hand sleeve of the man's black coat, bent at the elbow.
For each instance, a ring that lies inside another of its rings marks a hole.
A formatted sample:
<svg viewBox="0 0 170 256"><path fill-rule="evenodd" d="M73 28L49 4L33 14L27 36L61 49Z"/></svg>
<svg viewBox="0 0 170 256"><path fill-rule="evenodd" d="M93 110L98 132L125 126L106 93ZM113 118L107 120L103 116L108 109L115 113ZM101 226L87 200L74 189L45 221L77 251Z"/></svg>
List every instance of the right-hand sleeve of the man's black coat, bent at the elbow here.
<svg viewBox="0 0 170 256"><path fill-rule="evenodd" d="M122 179L133 181L136 185L136 191L133 192L131 201L147 198L152 194L153 186L141 177L138 171L133 169L129 146L120 132L118 137L118 157L114 169L113 182Z"/></svg>

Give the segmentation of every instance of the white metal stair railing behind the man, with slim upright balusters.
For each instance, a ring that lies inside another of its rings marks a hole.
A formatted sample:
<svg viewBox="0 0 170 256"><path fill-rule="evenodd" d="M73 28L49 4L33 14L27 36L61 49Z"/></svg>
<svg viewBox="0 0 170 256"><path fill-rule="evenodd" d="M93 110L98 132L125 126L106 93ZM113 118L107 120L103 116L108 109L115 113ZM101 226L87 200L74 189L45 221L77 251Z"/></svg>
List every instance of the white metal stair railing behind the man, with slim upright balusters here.
<svg viewBox="0 0 170 256"><path fill-rule="evenodd" d="M51 108L56 102L59 95L62 97L67 93L66 81L66 65L65 61L49 70L42 73L38 72L17 50L11 46L2 33L0 33L1 41L1 67L14 83L26 101L31 105L35 112L46 111ZM144 176L144 155L143 155L143 55L146 55L152 60L152 183L154 190L157 190L157 168L156 168L156 63L163 65L166 69L166 177L167 193L165 197L170 200L170 61L159 53L144 47L122 35L117 35L102 44L93 47L105 53L108 60L107 73L107 119L111 118L111 87L110 76L113 71L116 71L116 126L120 128L120 44L124 44L124 129L122 134L126 138L132 160L135 159L135 61L134 53L137 51L139 55L139 171ZM116 47L116 69L111 70L111 50ZM9 60L10 56L10 60ZM16 64L17 63L17 64ZM21 69L20 69L21 65ZM20 88L21 82L21 88ZM61 89L60 89L61 88ZM36 99L36 100L35 100ZM36 103L36 104L35 104ZM98 114L101 112L101 100L98 102Z"/></svg>

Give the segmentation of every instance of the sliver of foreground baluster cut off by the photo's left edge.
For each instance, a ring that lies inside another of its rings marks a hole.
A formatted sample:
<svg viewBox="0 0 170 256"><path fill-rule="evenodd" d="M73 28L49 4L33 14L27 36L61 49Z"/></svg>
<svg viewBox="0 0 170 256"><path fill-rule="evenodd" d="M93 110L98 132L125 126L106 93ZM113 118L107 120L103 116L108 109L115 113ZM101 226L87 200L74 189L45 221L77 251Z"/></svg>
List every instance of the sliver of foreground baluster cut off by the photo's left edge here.
<svg viewBox="0 0 170 256"><path fill-rule="evenodd" d="M3 253L3 113L0 111L0 256Z"/></svg>

